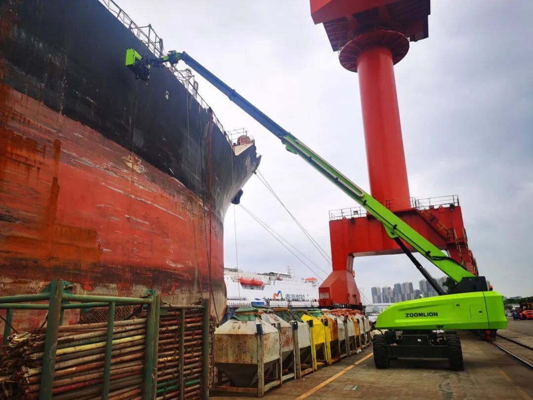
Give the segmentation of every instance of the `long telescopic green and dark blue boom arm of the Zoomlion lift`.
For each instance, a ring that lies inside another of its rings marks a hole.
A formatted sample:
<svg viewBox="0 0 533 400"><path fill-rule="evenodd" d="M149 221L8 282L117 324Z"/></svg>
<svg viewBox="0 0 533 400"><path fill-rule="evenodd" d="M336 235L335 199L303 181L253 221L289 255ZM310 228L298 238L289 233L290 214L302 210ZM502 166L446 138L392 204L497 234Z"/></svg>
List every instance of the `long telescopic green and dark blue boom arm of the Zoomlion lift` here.
<svg viewBox="0 0 533 400"><path fill-rule="evenodd" d="M399 239L402 239L457 283L461 282L463 278L474 277L473 274L464 269L459 263L449 258L445 253L438 249L437 246L434 246L425 237L407 225L407 223L403 222L401 218L397 217L397 215L387 209L387 207L379 203L374 197L370 196L366 191L362 190L350 179L346 178L340 171L335 169L333 165L329 164L325 159L321 158L303 142L298 140L293 134L287 132L251 102L246 100L235 90L231 89L230 86L222 82L189 54L185 52L178 53L178 58L195 70L199 75L203 76L222 93L227 95L228 98L243 109L245 113L276 135L288 151L301 156L318 172L324 175L328 180L332 181L335 186L340 188L344 193L350 196L350 198L364 207L368 213L372 214L374 218L382 223L389 237L395 239L397 243L401 243Z"/></svg>

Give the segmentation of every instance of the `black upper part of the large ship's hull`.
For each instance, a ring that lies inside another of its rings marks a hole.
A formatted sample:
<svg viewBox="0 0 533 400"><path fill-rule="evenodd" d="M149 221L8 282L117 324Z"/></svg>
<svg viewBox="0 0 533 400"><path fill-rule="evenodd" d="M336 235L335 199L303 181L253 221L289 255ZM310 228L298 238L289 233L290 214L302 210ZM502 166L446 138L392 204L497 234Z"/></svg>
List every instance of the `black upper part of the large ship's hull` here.
<svg viewBox="0 0 533 400"><path fill-rule="evenodd" d="M149 51L98 1L0 0L0 6L4 84L133 151L204 202L211 199L222 222L259 165L255 145L235 156L168 69L152 70L148 85L135 80L124 65L126 49Z"/></svg>

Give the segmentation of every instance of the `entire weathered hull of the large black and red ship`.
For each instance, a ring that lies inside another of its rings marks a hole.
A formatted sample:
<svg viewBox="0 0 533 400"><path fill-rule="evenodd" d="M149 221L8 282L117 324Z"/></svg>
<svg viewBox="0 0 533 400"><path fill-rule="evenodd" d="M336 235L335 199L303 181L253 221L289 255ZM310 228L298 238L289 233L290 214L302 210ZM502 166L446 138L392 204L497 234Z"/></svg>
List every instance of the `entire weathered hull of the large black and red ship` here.
<svg viewBox="0 0 533 400"><path fill-rule="evenodd" d="M223 217L255 145L236 156L171 71L135 81L125 49L148 50L96 0L0 13L0 295L62 278L76 293L209 297L221 315Z"/></svg>

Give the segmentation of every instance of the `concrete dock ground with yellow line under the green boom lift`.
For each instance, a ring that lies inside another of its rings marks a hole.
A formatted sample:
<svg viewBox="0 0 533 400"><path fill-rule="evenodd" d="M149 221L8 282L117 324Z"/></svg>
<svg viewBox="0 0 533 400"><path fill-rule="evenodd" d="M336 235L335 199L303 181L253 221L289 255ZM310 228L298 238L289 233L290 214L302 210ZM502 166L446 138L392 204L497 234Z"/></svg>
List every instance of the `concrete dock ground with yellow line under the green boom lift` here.
<svg viewBox="0 0 533 400"><path fill-rule="evenodd" d="M528 324L530 321L521 322ZM303 379L284 382L281 387L269 390L264 397L331 400L533 398L533 369L472 333L462 332L461 340L464 371L449 370L446 360L393 360L389 369L377 370L370 346L356 356L344 358ZM238 397L214 398L229 400Z"/></svg>

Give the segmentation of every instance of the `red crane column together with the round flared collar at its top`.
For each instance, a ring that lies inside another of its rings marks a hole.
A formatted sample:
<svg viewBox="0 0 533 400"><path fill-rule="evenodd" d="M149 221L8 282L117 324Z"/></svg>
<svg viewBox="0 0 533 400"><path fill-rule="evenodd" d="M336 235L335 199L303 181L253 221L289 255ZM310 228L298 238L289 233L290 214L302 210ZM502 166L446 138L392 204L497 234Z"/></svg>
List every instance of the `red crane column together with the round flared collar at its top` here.
<svg viewBox="0 0 533 400"><path fill-rule="evenodd" d="M410 207L393 64L409 50L402 33L366 28L346 43L341 65L359 75L370 194L392 211Z"/></svg>

